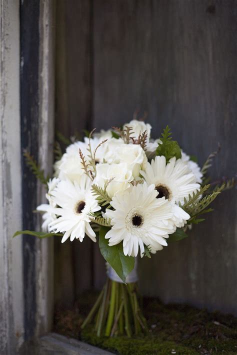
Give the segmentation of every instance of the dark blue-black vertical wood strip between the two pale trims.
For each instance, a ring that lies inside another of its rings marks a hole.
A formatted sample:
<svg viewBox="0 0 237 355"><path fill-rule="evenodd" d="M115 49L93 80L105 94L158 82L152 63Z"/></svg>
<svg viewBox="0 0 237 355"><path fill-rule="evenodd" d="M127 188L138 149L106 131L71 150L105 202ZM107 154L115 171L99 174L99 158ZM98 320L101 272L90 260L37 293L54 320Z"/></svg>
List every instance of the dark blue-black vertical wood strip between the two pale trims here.
<svg viewBox="0 0 237 355"><path fill-rule="evenodd" d="M20 5L20 114L21 154L26 149L35 159L38 157L38 47L39 2L24 1ZM22 227L34 230L37 205L36 178L26 165L22 155ZM36 326L36 265L37 241L23 236L23 289L25 339L35 333Z"/></svg>

